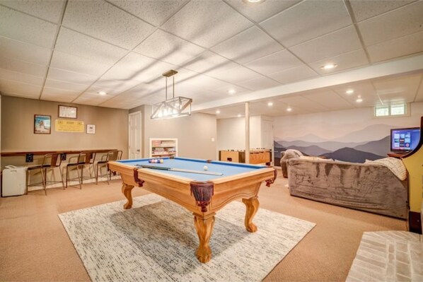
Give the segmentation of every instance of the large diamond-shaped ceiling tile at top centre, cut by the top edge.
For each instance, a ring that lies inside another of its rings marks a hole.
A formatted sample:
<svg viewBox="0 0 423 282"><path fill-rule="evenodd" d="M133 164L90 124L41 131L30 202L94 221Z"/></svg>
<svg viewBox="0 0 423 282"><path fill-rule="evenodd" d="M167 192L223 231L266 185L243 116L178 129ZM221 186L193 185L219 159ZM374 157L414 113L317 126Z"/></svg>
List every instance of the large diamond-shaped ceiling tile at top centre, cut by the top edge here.
<svg viewBox="0 0 423 282"><path fill-rule="evenodd" d="M251 25L249 20L222 1L190 1L161 28L208 48Z"/></svg>

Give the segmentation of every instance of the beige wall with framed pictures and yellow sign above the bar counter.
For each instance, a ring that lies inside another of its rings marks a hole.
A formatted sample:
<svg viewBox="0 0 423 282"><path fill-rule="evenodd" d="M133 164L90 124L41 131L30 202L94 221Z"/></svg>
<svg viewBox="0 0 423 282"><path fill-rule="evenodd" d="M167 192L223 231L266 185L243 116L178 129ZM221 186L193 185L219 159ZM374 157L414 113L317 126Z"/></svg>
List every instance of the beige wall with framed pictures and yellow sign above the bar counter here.
<svg viewBox="0 0 423 282"><path fill-rule="evenodd" d="M78 118L86 124L95 124L95 134L56 132L54 121L58 119L58 105L49 102L2 96L1 101L1 151L59 151L116 148L127 157L128 110L74 105ZM51 134L34 134L34 114L52 117ZM74 119L72 119L74 120ZM3 158L6 161L6 158ZM7 163L2 162L2 165Z"/></svg>

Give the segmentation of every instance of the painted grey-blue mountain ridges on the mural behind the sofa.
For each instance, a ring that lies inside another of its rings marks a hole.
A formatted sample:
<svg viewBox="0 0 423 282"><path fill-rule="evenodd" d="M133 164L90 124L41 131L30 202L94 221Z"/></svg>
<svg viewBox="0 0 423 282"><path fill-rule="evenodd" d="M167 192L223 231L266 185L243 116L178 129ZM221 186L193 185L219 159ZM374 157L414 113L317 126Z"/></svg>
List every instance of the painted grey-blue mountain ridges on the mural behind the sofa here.
<svg viewBox="0 0 423 282"><path fill-rule="evenodd" d="M389 130L387 131L389 132ZM364 137L368 132L369 127L363 129L362 131L356 131L351 134L354 134L356 137L357 135ZM304 141L305 139L307 141ZM315 140L314 142L312 141L313 139ZM279 165L281 152L286 151L287 149L296 149L306 155L324 155L327 158L352 163L364 163L366 160L386 158L386 154L390 152L389 135L374 141L347 141L351 139L349 139L349 136L342 136L333 141L325 141L318 136L309 134L308 136L304 136L304 138L299 140L274 140L275 164Z"/></svg>

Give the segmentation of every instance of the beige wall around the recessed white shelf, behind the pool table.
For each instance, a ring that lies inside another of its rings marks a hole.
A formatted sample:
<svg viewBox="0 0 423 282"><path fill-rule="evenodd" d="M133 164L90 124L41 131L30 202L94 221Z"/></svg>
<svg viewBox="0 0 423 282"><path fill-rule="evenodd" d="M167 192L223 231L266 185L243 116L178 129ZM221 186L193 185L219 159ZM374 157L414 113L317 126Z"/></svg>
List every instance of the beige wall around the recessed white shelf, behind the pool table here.
<svg viewBox="0 0 423 282"><path fill-rule="evenodd" d="M177 119L150 119L150 106L136 107L129 112L139 110L142 113L144 158L149 158L150 138L177 138L179 157L217 159L216 116L213 114L195 113Z"/></svg>

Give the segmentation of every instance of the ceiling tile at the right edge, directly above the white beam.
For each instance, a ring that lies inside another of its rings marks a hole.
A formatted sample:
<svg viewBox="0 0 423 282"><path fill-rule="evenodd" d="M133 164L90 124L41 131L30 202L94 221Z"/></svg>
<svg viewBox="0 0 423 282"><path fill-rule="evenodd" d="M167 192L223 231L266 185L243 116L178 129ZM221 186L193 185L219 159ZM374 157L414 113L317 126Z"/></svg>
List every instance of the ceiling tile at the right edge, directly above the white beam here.
<svg viewBox="0 0 423 282"><path fill-rule="evenodd" d="M423 31L366 48L372 63L423 52Z"/></svg>

